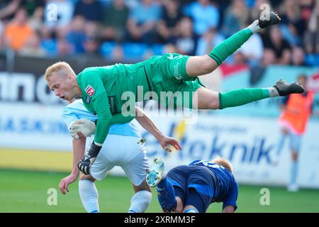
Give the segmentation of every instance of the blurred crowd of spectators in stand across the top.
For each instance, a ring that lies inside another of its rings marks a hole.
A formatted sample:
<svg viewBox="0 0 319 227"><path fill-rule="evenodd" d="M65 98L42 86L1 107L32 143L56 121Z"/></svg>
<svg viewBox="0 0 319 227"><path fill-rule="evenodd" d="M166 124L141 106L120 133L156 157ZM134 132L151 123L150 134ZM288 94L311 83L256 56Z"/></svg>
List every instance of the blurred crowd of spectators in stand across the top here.
<svg viewBox="0 0 319 227"><path fill-rule="evenodd" d="M116 62L205 55L267 7L279 26L253 35L226 63L319 65L319 0L1 0L0 51Z"/></svg>

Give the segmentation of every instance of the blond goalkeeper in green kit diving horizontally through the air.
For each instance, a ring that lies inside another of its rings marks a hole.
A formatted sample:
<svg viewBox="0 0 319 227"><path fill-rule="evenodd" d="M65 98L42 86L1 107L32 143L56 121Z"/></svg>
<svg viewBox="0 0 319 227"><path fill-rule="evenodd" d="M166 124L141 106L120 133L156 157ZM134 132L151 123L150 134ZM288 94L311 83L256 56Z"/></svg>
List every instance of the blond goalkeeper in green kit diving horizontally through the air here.
<svg viewBox="0 0 319 227"><path fill-rule="evenodd" d="M133 65L89 67L78 75L66 62L57 62L48 67L45 79L55 95L68 101L81 97L86 109L99 118L94 142L88 153L79 161L79 169L84 174L89 174L89 168L108 135L108 128L112 124L126 123L135 117L132 108L135 101L155 99L159 103L164 102L166 106L225 109L260 99L303 93L300 84L287 84L282 80L276 82L274 87L218 93L203 87L198 79L198 76L213 72L253 33L280 21L274 11L269 12L265 18L254 21L204 56L166 54L150 57ZM174 95L169 98L167 92ZM134 100L131 99L132 95Z"/></svg>

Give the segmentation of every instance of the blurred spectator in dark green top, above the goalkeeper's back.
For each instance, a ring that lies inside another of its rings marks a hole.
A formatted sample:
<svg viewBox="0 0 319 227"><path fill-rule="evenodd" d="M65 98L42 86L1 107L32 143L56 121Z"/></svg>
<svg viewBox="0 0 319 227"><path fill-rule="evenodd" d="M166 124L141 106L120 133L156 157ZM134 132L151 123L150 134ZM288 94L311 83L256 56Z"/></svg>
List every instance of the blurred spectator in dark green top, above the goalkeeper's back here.
<svg viewBox="0 0 319 227"><path fill-rule="evenodd" d="M106 40L123 41L128 23L128 6L124 0L113 0L103 13L103 38Z"/></svg>

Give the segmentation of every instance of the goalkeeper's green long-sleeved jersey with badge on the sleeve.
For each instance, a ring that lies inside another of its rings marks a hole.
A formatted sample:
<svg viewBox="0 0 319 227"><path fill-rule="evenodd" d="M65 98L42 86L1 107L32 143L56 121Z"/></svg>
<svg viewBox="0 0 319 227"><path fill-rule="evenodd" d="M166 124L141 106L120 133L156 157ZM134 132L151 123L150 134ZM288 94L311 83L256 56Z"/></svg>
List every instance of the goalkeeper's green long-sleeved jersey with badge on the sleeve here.
<svg viewBox="0 0 319 227"><path fill-rule="evenodd" d="M77 83L82 91L84 106L99 118L94 141L101 144L111 124L127 123L134 118L121 114L123 104L128 101L121 99L122 94L131 92L137 98L138 85L145 87L145 92L148 87L142 63L89 67L77 75ZM129 101L135 104L137 100Z"/></svg>

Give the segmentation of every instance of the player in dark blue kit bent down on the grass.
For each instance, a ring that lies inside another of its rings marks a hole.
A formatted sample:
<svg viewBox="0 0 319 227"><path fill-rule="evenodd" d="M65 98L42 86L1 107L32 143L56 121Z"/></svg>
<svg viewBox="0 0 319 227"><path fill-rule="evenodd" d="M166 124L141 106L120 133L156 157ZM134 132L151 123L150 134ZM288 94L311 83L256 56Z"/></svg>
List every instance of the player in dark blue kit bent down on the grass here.
<svg viewBox="0 0 319 227"><path fill-rule="evenodd" d="M238 184L233 167L220 157L174 167L167 176L164 162L155 157L146 179L150 187L156 187L164 212L204 213L213 202L223 202L224 213L237 209Z"/></svg>

